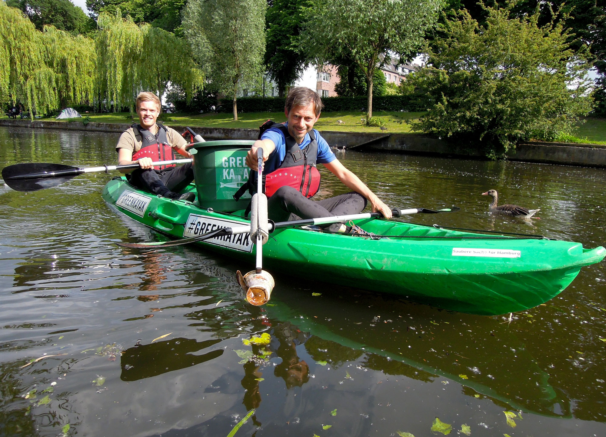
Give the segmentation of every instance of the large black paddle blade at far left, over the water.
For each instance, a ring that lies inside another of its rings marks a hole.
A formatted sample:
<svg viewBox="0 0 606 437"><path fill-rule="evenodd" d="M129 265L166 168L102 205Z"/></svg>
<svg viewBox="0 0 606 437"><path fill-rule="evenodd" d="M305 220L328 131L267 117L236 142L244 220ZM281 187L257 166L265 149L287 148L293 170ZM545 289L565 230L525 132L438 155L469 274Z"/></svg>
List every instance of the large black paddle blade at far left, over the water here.
<svg viewBox="0 0 606 437"><path fill-rule="evenodd" d="M66 172L62 175L45 175L45 173ZM2 168L2 179L5 184L15 191L36 191L43 188L55 187L78 176L79 168L64 164L48 164L35 162L31 164L15 164ZM31 177L29 177L31 176Z"/></svg>

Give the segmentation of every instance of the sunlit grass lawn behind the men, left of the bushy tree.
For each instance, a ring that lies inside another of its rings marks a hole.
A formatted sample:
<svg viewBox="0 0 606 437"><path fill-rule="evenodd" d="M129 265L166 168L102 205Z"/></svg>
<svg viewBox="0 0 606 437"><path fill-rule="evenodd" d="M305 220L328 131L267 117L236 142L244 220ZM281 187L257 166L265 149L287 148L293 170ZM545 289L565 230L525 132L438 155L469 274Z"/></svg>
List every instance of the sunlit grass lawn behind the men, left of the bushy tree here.
<svg viewBox="0 0 606 437"><path fill-rule="evenodd" d="M418 119L422 112L375 112L375 117L384 118L387 131L393 133L410 132L408 121ZM132 123L132 119L127 112L119 113L101 113L101 114L82 114L89 116L90 121L100 123ZM181 125L190 127L239 127L257 129L267 119L276 122L286 121L284 113L254 112L238 114L238 121L233 121L231 113L208 113L198 115L185 114L167 114L169 120L164 124ZM322 113L315 127L318 130L337 130L341 132L382 132L378 127L366 127L362 125L362 118L366 118L364 113L358 112L327 112ZM45 118L54 120L54 118ZM65 119L61 121L81 121L81 118ZM342 124L339 124L339 120Z"/></svg>

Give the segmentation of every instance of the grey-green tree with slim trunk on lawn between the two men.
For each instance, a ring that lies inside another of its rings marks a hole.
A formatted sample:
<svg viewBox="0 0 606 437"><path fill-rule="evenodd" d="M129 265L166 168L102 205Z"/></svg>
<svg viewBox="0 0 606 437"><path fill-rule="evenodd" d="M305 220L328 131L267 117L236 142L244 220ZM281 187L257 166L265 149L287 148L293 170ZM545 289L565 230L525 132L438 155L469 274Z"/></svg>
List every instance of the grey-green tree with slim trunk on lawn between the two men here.
<svg viewBox="0 0 606 437"><path fill-rule="evenodd" d="M219 92L236 99L261 72L265 53L266 0L190 0L184 28L193 53Z"/></svg>

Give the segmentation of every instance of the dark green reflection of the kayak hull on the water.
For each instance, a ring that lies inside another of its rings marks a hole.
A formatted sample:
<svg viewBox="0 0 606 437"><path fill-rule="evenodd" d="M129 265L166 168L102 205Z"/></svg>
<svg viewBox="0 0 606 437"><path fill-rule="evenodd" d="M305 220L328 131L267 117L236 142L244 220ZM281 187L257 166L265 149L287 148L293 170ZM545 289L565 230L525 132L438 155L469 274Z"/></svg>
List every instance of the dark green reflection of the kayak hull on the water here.
<svg viewBox="0 0 606 437"><path fill-rule="evenodd" d="M352 293L356 293L355 301ZM415 379L420 375L424 380L428 375L445 376L513 409L559 417L571 414L570 401L563 393L556 393L549 375L536 364L510 326L497 318L436 313L424 305L414 305L415 311L411 312L413 304L409 302L350 289L324 293L320 299L321 304L317 298L316 302L281 299L267 311L271 318L292 319L302 329L341 345L322 348L331 351L324 355L310 352L315 359L325 358L339 366L357 358L355 350L357 355L363 350L405 364L397 364L400 369L413 368L395 374ZM337 305L339 311L335 312ZM369 306L373 307L370 314L366 310ZM353 350L347 350L350 348ZM391 372L396 365L384 367L385 360L376 358L367 359L367 363L371 369L391 368Z"/></svg>

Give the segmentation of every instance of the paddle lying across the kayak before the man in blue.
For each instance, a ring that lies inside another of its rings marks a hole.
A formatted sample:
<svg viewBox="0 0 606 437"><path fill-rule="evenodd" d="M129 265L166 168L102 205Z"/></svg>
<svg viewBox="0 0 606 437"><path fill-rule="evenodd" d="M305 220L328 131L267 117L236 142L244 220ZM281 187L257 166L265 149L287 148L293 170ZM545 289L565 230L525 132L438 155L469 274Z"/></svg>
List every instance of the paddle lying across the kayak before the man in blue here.
<svg viewBox="0 0 606 437"><path fill-rule="evenodd" d="M393 217L399 217L405 214L438 214L438 213L448 213L448 212L457 212L461 210L461 208L453 206L450 208L444 208L439 210L430 210L427 208L411 208L411 209L401 209L394 208L391 210ZM347 222L350 220L362 220L368 218L381 218L383 215L379 212L373 213L361 213L361 214L350 214L350 215L342 215L342 216L331 216L331 217L321 217L315 219L301 219L301 220L291 220L285 222L274 223L271 220L268 221L268 232L274 232L276 229L283 229L287 227L293 226L305 226L305 225L325 225L331 223L338 222ZM155 247L173 247L180 246L183 244L191 244L197 241L205 241L211 238L219 238L222 236L229 235L238 235L241 233L251 232L250 225L241 225L241 226L233 226L233 227L224 227L221 229L215 229L211 232L207 232L202 235L196 235L190 238L182 238L178 240L170 240L170 241L150 241L145 243L116 243L122 247L130 247L133 249L154 249Z"/></svg>

